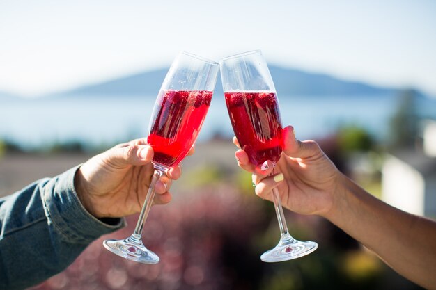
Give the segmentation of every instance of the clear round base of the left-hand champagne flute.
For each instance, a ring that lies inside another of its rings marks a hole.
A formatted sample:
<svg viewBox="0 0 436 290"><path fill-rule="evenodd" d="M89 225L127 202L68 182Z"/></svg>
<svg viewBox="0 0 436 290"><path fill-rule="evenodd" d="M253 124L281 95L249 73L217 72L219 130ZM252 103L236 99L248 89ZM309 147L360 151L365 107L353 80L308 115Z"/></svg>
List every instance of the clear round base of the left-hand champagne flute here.
<svg viewBox="0 0 436 290"><path fill-rule="evenodd" d="M159 262L159 256L148 250L141 239L134 239L132 236L124 240L105 240L103 245L107 250L131 261L143 264L157 264Z"/></svg>

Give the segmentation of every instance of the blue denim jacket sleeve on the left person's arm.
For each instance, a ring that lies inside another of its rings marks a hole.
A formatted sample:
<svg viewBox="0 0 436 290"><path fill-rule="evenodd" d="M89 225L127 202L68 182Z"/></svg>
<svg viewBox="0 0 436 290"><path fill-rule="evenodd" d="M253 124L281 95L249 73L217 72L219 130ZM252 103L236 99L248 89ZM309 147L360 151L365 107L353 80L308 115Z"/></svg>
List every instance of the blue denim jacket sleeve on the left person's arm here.
<svg viewBox="0 0 436 290"><path fill-rule="evenodd" d="M0 199L0 289L24 289L67 268L121 218L88 214L74 187L78 166Z"/></svg>

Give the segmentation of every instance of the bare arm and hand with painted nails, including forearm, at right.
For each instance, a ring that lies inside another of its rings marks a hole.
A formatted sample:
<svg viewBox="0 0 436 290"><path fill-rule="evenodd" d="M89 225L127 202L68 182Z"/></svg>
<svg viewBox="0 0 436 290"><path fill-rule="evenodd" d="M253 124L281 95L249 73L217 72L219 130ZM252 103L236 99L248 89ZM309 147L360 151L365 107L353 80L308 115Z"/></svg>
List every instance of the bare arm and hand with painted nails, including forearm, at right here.
<svg viewBox="0 0 436 290"><path fill-rule="evenodd" d="M238 146L235 138L233 143ZM274 171L270 162L256 168L244 150L235 156L253 174L261 198L272 200L272 188L277 187L284 207L327 218L400 275L436 289L435 220L375 198L339 172L316 142L296 140L293 127L283 129L283 153Z"/></svg>

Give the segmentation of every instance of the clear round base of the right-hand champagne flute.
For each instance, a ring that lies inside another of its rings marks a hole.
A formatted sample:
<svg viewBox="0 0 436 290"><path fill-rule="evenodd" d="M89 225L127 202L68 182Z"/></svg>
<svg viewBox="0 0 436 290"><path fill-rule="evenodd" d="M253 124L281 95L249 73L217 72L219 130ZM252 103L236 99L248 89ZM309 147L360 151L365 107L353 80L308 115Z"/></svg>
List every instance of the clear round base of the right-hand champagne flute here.
<svg viewBox="0 0 436 290"><path fill-rule="evenodd" d="M273 249L264 252L260 256L260 259L268 263L288 261L309 255L317 248L318 243L313 241L297 241L291 236L288 236L288 239L280 239L278 245L276 245Z"/></svg>

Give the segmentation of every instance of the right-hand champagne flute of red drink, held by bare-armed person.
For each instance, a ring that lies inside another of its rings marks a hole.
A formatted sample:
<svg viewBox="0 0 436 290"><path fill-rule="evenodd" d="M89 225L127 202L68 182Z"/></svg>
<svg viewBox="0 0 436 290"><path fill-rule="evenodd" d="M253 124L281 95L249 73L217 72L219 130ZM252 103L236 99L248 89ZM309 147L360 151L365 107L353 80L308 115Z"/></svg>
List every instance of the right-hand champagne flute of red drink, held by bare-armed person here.
<svg viewBox="0 0 436 290"><path fill-rule="evenodd" d="M268 160L275 166L283 150L282 125L274 83L262 53L257 50L229 56L220 65L228 115L241 148L255 166L265 166ZM281 237L260 259L286 261L316 250L317 243L290 236L277 188L272 193Z"/></svg>

